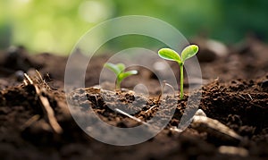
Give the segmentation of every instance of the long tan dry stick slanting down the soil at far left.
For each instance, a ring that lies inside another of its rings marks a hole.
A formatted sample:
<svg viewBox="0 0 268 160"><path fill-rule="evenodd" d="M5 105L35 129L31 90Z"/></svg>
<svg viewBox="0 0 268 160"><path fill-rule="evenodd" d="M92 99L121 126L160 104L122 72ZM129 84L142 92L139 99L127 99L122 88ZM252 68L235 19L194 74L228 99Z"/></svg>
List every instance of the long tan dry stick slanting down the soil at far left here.
<svg viewBox="0 0 268 160"><path fill-rule="evenodd" d="M33 87L35 88L35 91L38 95L38 101L40 105L42 106L43 112L46 115L46 118L52 130L58 134L62 133L63 129L60 126L60 124L57 122L56 118L54 117L54 111L52 107L50 106L48 99L42 96L40 89L36 85L33 84L33 81L29 78L29 76L26 73L24 73L24 76L26 78L27 84L33 85Z"/></svg>

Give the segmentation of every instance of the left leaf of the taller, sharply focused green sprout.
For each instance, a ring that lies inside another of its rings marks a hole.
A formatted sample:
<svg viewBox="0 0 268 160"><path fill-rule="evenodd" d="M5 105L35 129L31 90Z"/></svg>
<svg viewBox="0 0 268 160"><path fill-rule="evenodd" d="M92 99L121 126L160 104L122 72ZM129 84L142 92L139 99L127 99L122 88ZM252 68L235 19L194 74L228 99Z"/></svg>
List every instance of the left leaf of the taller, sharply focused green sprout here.
<svg viewBox="0 0 268 160"><path fill-rule="evenodd" d="M158 55L163 59L170 60L170 61L176 61L178 63L181 63L180 55L176 51L174 51L170 48L160 49L158 51Z"/></svg>

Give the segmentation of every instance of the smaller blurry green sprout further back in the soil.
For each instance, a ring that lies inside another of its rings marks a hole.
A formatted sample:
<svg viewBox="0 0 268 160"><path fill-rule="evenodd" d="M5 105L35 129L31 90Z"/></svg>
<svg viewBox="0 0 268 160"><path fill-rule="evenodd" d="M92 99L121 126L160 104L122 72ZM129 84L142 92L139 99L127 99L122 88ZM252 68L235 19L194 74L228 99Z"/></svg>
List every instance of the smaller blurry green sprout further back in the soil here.
<svg viewBox="0 0 268 160"><path fill-rule="evenodd" d="M138 71L136 70L125 72L126 67L123 63L117 63L117 64L105 63L105 68L111 70L116 75L115 89L121 88L122 80L129 77L130 75L134 75L138 73Z"/></svg>

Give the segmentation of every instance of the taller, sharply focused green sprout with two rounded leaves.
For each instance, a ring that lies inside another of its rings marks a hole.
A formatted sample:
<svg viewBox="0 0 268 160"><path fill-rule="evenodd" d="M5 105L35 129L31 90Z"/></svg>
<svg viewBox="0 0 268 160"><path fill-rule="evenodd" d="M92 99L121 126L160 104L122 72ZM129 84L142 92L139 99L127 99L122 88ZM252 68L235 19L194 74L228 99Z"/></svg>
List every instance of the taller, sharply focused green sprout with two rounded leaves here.
<svg viewBox="0 0 268 160"><path fill-rule="evenodd" d="M158 55L161 58L179 63L179 66L180 66L180 100L183 99L183 64L188 58L196 55L197 52L198 52L197 45L190 45L190 46L185 47L183 51L181 52L181 56L176 51L170 48L162 48L158 51Z"/></svg>

